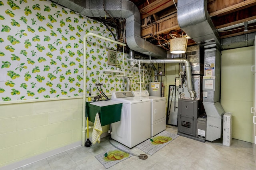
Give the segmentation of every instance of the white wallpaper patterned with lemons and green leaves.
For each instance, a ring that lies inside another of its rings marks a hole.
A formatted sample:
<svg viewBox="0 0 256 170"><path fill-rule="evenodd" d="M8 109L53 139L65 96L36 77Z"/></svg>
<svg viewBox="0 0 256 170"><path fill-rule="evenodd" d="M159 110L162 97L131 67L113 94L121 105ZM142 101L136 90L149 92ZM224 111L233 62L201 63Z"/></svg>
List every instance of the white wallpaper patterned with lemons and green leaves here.
<svg viewBox="0 0 256 170"><path fill-rule="evenodd" d="M102 23L91 20L50 0L0 0L0 99L15 101L68 96L83 93L83 37L88 32L111 38ZM114 34L116 31L111 28ZM108 65L108 49L117 46L95 37L87 38L86 86L96 95L95 83L104 93L122 91L124 77L102 75ZM138 71L130 69L128 54L118 52L125 74L134 76L131 90L140 89ZM148 89L151 68L142 89ZM114 85L113 85L114 84Z"/></svg>

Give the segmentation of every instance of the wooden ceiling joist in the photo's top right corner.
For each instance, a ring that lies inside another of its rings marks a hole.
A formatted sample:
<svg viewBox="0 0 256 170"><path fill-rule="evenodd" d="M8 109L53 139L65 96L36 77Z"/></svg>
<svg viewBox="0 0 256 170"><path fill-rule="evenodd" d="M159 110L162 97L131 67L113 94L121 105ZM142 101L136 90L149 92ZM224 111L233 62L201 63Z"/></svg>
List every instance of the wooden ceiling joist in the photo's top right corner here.
<svg viewBox="0 0 256 170"><path fill-rule="evenodd" d="M255 0L208 0L207 9L210 16L221 16L256 5Z"/></svg>

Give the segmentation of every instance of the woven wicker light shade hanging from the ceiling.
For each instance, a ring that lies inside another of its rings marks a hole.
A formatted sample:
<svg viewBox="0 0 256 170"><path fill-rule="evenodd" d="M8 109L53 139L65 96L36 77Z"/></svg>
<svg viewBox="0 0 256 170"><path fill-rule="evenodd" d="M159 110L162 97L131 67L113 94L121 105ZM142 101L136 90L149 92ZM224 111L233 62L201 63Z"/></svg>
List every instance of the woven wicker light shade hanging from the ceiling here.
<svg viewBox="0 0 256 170"><path fill-rule="evenodd" d="M174 38L170 40L170 51L173 54L182 54L187 50L188 39Z"/></svg>

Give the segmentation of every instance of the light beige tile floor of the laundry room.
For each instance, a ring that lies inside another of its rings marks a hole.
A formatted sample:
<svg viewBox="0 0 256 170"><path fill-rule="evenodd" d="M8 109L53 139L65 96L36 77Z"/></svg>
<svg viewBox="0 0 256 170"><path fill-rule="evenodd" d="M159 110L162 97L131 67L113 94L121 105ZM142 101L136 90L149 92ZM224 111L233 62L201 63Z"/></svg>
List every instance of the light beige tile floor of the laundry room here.
<svg viewBox="0 0 256 170"><path fill-rule="evenodd" d="M176 127L168 126L169 132L177 133ZM94 157L110 147L108 138L91 147L73 148L17 170L104 170L104 166ZM144 154L133 147L134 154ZM179 136L161 150L141 160L137 156L119 162L108 170L256 170L256 156L252 143L232 140L230 147L221 140L199 142Z"/></svg>

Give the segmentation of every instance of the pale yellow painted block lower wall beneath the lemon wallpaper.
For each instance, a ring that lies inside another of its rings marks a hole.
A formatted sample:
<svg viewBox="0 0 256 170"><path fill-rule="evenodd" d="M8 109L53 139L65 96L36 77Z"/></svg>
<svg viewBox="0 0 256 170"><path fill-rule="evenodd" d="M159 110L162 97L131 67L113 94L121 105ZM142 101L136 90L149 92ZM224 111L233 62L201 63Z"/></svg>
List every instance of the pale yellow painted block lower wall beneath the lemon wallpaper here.
<svg viewBox="0 0 256 170"><path fill-rule="evenodd" d="M0 167L82 140L82 98L0 108Z"/></svg>

